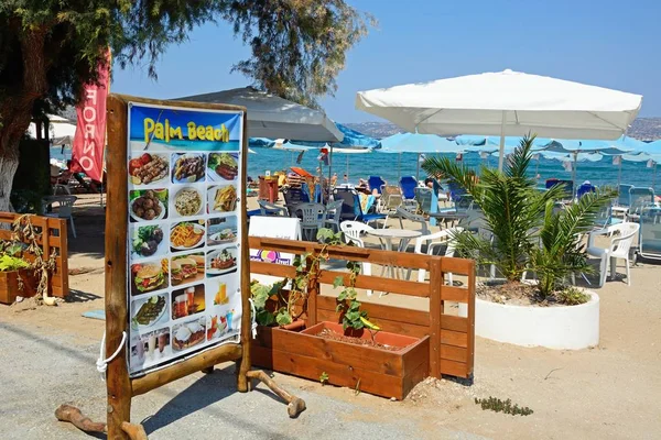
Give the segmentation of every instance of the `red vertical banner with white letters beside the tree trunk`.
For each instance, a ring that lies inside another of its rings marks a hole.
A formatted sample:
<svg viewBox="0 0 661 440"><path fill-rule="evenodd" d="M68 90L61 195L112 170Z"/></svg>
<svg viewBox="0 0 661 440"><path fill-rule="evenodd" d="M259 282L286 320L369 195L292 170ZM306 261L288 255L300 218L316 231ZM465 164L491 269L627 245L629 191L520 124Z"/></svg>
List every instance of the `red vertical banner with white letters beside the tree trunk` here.
<svg viewBox="0 0 661 440"><path fill-rule="evenodd" d="M106 146L106 97L109 88L110 52L106 63L99 64L98 85L84 87L83 100L76 108L77 125L72 158L93 180L104 176L104 147Z"/></svg>

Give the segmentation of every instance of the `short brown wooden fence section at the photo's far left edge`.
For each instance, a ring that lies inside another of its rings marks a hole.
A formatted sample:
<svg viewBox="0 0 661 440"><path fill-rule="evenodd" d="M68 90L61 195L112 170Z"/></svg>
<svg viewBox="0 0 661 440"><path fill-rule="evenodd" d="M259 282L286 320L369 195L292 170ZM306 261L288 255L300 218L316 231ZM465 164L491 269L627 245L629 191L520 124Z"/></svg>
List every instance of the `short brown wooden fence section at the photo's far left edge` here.
<svg viewBox="0 0 661 440"><path fill-rule="evenodd" d="M11 240L11 223L22 215L0 212L0 240ZM68 295L68 254L67 229L65 219L42 216L30 216L39 238L37 243L43 251L42 257L48 260L55 255L55 270L48 277L48 295L64 298ZM28 255L28 258L31 256Z"/></svg>

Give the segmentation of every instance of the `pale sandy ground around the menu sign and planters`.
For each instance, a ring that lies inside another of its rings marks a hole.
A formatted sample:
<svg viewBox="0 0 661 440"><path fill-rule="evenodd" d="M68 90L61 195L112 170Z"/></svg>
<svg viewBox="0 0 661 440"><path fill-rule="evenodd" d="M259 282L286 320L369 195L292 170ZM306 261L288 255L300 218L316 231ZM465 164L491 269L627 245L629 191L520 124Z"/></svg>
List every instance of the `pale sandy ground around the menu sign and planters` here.
<svg viewBox="0 0 661 440"><path fill-rule="evenodd" d="M249 199L250 208L256 199ZM104 321L104 217L97 197L76 205L69 239L72 295L58 307L25 300L0 306L0 432L4 439L87 438L53 417L62 403L105 417L105 385L95 369ZM394 226L394 222L392 222ZM371 245L377 245L371 242ZM624 267L619 267L624 273ZM631 268L632 285L609 280L600 297L600 342L579 351L522 348L476 338L472 386L427 380L403 402L275 374L307 400L290 420L261 385L240 395L234 367L194 374L133 402L133 420L155 439L204 438L538 438L654 439L661 436L661 265ZM330 292L324 292L330 295ZM410 298L362 300L423 307ZM527 417L484 411L474 399L510 398Z"/></svg>

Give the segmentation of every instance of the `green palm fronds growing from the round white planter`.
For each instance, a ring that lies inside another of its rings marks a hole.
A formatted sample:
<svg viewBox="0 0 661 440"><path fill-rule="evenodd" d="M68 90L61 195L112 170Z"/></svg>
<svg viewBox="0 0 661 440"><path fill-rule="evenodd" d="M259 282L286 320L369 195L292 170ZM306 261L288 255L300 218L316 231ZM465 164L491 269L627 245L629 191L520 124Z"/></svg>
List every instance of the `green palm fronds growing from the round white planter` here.
<svg viewBox="0 0 661 440"><path fill-rule="evenodd" d="M508 282L519 282L523 272L539 275L540 300L548 299L572 273L589 272L581 234L588 231L598 211L610 201L610 190L584 195L566 209L564 187L537 189L528 167L534 135L524 136L507 160L502 172L483 166L481 177L447 157L427 158L422 167L431 175L444 175L465 188L484 217L481 232L469 229L455 234L458 253L479 265L495 265Z"/></svg>

